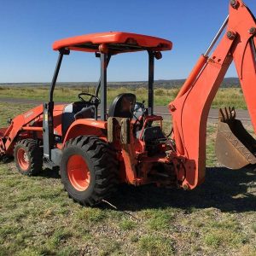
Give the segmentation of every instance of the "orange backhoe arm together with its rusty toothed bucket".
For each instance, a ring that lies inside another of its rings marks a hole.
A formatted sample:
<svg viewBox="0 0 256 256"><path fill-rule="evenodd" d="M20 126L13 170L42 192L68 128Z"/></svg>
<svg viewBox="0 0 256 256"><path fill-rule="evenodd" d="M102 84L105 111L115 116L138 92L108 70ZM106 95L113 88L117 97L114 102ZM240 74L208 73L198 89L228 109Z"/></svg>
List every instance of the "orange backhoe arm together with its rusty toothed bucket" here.
<svg viewBox="0 0 256 256"><path fill-rule="evenodd" d="M256 19L253 13L242 0L231 0L229 16L195 64L175 100L169 104L172 138L176 143L177 158L182 162L177 165L177 172L184 173L183 189L194 189L205 180L207 117L232 61L256 131L255 46ZM256 163L253 137L235 119L235 111L226 110L218 129L218 160L230 168Z"/></svg>

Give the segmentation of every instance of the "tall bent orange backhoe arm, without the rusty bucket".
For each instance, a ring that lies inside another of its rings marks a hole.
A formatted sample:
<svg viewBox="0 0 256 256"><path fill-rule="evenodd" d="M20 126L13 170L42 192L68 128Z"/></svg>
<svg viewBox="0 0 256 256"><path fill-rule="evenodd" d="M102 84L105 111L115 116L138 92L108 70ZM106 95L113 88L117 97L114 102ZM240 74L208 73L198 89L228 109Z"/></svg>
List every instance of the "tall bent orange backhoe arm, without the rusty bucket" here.
<svg viewBox="0 0 256 256"><path fill-rule="evenodd" d="M241 0L232 0L224 26L227 30L212 55L208 56L211 48L201 55L176 99L169 104L177 147L176 167L177 172L183 172L184 189L194 189L204 181L207 116L232 61L256 131L255 18Z"/></svg>

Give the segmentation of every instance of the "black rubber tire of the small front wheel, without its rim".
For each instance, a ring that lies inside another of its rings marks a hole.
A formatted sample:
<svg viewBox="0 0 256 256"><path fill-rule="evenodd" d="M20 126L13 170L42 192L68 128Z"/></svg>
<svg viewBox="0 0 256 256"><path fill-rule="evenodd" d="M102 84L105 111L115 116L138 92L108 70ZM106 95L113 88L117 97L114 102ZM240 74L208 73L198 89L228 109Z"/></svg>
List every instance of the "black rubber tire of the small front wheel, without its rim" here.
<svg viewBox="0 0 256 256"><path fill-rule="evenodd" d="M17 152L19 148L23 148L26 151L28 157L29 166L24 171L17 160ZM39 147L38 142L33 139L23 139L15 144L14 149L15 164L18 171L26 176L35 176L42 171L43 167L43 150Z"/></svg>

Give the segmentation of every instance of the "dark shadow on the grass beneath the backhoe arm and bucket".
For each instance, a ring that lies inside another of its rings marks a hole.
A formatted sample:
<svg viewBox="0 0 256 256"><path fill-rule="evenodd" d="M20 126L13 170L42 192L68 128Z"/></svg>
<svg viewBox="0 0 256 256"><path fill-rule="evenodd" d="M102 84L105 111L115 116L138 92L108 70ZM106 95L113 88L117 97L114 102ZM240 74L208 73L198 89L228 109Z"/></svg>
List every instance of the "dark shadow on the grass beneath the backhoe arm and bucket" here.
<svg viewBox="0 0 256 256"><path fill-rule="evenodd" d="M207 168L205 183L190 191L161 189L154 185L123 185L111 202L124 211L177 207L192 212L195 208L215 207L222 212L255 211L256 196L248 192L255 187L256 172L232 171L224 167Z"/></svg>

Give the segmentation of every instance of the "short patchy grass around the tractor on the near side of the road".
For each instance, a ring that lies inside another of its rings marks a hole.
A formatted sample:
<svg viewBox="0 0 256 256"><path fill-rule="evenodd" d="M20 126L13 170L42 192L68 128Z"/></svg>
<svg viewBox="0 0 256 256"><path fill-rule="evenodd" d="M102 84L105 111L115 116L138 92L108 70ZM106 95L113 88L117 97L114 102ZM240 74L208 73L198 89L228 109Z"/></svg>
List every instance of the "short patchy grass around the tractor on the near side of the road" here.
<svg viewBox="0 0 256 256"><path fill-rule="evenodd" d="M0 125L31 105L0 102ZM250 127L248 127L250 129ZM165 123L166 131L170 124ZM0 164L0 255L255 255L256 173L218 166L207 127L207 177L192 191L122 185L80 207L57 172L20 175Z"/></svg>

